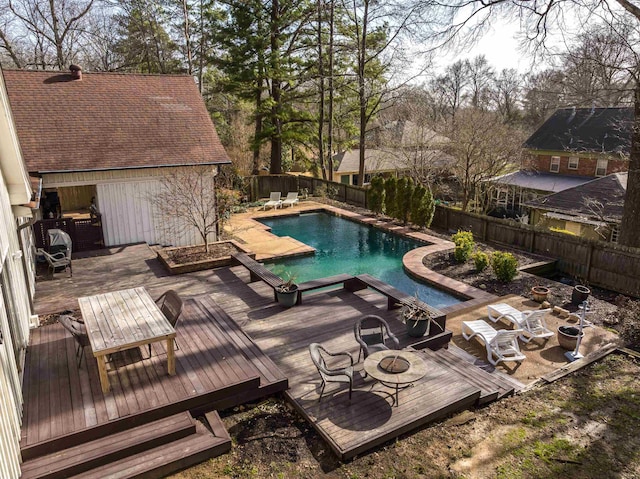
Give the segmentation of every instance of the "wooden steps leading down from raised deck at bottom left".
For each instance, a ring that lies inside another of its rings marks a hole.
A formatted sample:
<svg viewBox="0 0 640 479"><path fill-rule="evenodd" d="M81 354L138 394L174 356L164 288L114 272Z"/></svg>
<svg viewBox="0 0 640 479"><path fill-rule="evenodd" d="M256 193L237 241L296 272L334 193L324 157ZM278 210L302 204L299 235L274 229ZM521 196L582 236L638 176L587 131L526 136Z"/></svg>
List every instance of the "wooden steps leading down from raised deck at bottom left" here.
<svg viewBox="0 0 640 479"><path fill-rule="evenodd" d="M229 436L217 413L209 432L182 412L26 461L23 479L160 477L227 452Z"/></svg>

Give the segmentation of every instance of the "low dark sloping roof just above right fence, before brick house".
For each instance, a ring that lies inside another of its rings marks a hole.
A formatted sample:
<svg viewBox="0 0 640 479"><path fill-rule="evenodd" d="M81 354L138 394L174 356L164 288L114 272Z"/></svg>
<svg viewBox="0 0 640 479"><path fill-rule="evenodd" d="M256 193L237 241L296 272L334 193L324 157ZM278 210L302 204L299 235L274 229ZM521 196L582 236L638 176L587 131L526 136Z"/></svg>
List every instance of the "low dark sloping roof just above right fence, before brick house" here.
<svg viewBox="0 0 640 479"><path fill-rule="evenodd" d="M605 221L620 221L627 173L613 173L583 185L525 203L529 208Z"/></svg>

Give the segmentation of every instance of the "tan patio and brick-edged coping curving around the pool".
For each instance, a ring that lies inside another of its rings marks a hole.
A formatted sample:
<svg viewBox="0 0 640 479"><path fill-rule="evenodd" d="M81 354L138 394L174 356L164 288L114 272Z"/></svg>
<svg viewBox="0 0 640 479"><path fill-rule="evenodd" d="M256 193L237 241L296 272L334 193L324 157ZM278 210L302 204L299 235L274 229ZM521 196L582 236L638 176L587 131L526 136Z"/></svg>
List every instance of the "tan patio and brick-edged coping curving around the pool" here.
<svg viewBox="0 0 640 479"><path fill-rule="evenodd" d="M270 209L266 211L255 208L246 213L236 213L231 216L225 229L229 234L242 241L248 249L254 252L256 259L259 261L313 254L315 251L314 248L288 236L280 237L274 235L271 233L270 228L260 223L259 220L280 216L297 216L300 213L311 213L314 211L326 211L335 216L346 218L357 223L375 226L384 231L428 243L425 246L415 248L405 254L402 258L402 264L407 274L414 279L428 285L436 286L462 299L460 303L439 308L443 313L462 313L481 305L490 304L498 299L498 296L436 273L424 266L422 259L426 255L453 249L453 242L422 231L413 230L407 226L398 225L390 220L373 215L363 215L315 201L302 201L296 207Z"/></svg>

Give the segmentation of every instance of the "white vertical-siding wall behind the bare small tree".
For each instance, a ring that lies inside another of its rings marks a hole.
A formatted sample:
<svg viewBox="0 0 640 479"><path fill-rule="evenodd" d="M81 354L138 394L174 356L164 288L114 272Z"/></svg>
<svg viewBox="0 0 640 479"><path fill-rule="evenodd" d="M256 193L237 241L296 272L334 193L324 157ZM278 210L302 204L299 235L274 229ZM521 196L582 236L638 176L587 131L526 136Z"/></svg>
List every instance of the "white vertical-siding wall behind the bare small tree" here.
<svg viewBox="0 0 640 479"><path fill-rule="evenodd" d="M155 179L97 185L106 246L138 242L186 246L202 242L195 228L155 211L149 198L161 188Z"/></svg>

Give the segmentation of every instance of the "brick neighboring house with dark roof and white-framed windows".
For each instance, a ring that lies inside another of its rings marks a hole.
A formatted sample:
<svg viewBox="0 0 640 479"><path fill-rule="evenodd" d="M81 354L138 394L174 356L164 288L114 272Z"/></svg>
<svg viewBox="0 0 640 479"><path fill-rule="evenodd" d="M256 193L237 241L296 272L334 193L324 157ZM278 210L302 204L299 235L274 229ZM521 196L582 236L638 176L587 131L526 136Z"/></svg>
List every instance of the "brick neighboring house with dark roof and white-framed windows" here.
<svg viewBox="0 0 640 479"><path fill-rule="evenodd" d="M633 109L563 108L524 143L524 167L488 181L495 206L522 214L523 205L628 169Z"/></svg>

